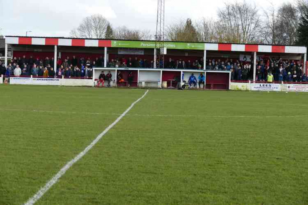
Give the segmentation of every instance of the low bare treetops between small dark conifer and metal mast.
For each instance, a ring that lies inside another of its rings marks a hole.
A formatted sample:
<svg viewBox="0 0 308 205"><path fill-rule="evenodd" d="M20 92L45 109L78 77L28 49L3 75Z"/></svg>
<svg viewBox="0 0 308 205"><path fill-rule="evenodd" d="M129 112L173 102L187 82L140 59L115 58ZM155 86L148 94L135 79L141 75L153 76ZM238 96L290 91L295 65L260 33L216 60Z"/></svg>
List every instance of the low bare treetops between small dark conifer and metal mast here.
<svg viewBox="0 0 308 205"><path fill-rule="evenodd" d="M117 27L113 36L115 39L129 39L129 40L152 40L153 35L149 30L134 30L126 26Z"/></svg>

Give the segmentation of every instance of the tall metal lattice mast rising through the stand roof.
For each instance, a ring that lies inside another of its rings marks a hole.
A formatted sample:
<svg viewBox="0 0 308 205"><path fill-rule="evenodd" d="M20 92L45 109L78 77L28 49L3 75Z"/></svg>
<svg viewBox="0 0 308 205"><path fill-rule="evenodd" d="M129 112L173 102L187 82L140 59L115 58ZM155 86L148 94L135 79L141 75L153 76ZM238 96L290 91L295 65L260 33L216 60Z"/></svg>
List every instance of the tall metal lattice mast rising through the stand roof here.
<svg viewBox="0 0 308 205"><path fill-rule="evenodd" d="M155 35L155 51L154 59L158 61L157 68L164 67L164 41L165 41L165 0L157 1L157 21L156 21L156 35ZM154 62L154 68L156 62Z"/></svg>

